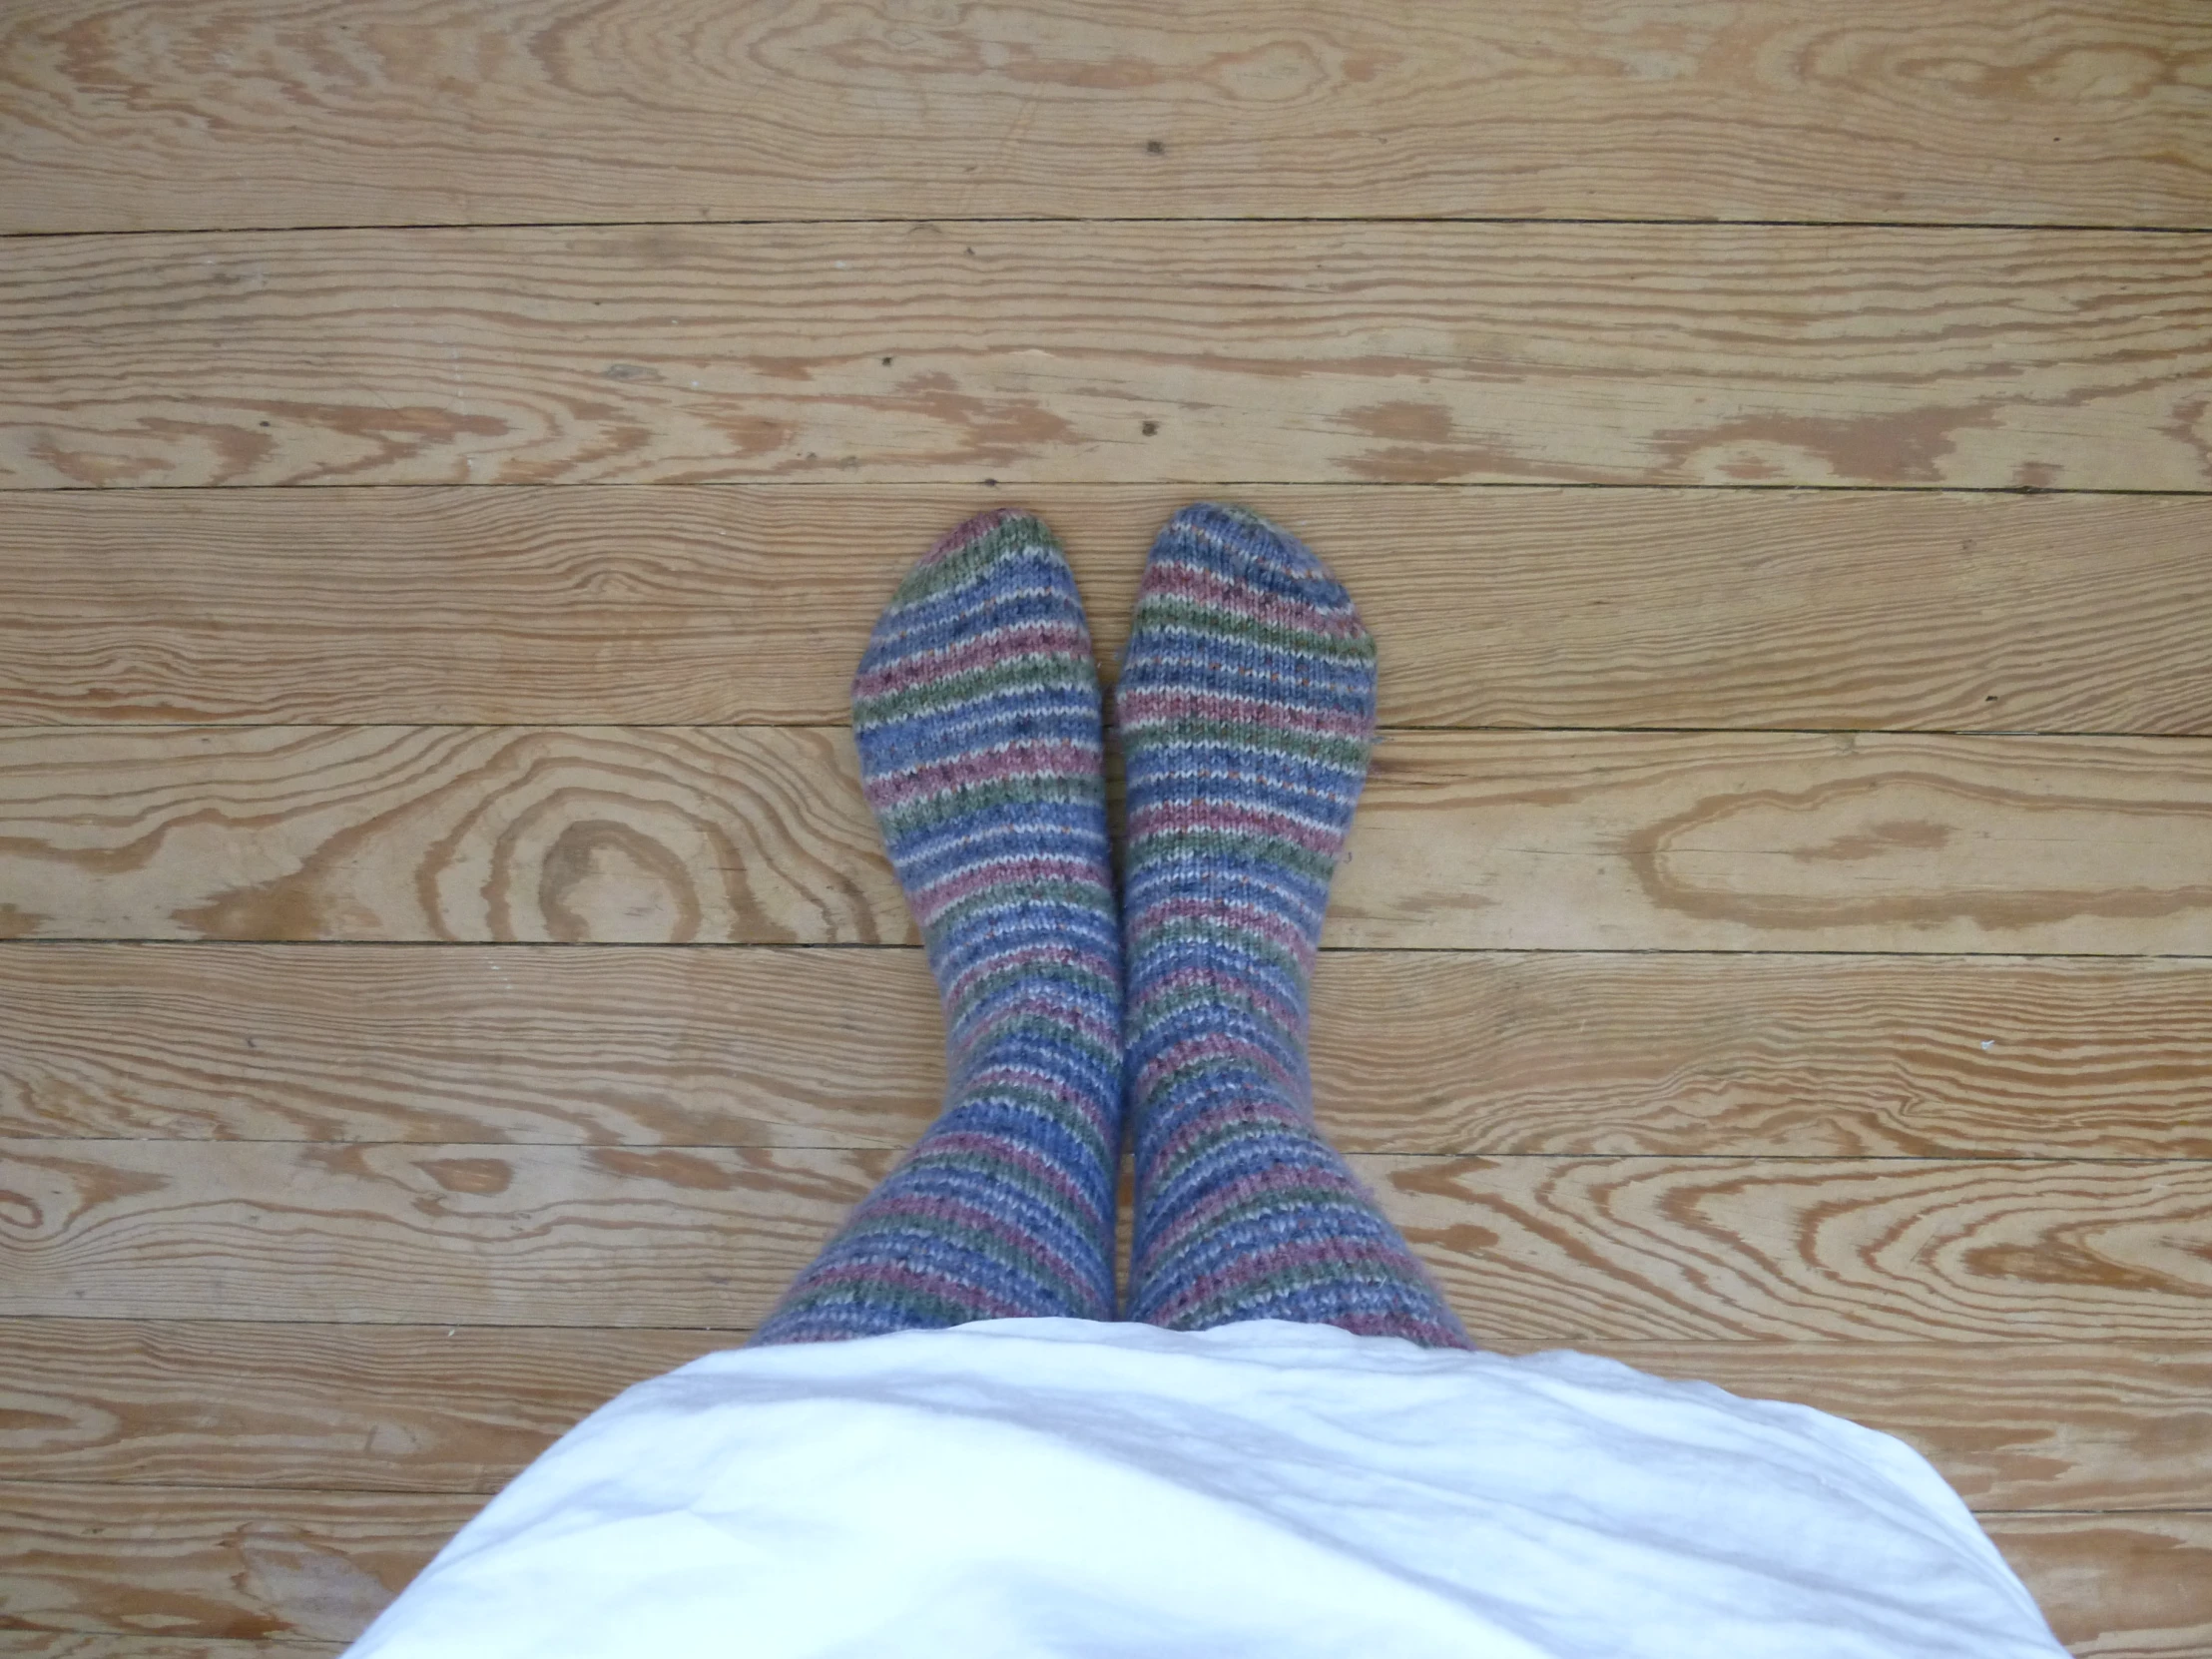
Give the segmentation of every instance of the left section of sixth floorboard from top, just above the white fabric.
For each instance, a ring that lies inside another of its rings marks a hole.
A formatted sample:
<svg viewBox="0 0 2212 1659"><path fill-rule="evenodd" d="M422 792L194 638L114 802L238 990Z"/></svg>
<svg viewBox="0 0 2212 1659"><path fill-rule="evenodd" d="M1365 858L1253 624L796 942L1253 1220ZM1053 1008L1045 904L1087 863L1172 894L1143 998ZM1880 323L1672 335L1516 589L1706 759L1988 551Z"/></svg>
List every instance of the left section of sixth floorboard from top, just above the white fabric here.
<svg viewBox="0 0 2212 1659"><path fill-rule="evenodd" d="M894 1157L13 1141L0 1314L745 1329Z"/></svg>

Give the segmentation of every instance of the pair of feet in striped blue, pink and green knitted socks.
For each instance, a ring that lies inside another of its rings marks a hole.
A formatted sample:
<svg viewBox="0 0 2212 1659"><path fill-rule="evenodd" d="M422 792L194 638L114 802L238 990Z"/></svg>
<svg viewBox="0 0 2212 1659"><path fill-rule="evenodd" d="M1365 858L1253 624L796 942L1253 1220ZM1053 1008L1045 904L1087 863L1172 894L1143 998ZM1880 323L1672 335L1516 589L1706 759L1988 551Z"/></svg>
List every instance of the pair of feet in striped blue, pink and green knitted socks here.
<svg viewBox="0 0 2212 1659"><path fill-rule="evenodd" d="M1152 546L1115 714L1051 531L998 511L900 584L854 684L860 779L945 998L942 1117L754 1340L973 1318L1301 1318L1464 1345L1312 1126L1305 1011L1374 741L1374 641L1296 538L1190 507Z"/></svg>

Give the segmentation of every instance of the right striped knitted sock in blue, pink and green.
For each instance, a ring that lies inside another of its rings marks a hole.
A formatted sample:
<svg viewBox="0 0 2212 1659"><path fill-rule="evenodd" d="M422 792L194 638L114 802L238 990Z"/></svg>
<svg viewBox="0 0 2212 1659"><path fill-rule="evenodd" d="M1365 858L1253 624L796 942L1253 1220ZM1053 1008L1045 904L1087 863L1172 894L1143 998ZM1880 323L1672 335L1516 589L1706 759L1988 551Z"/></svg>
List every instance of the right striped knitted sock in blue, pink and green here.
<svg viewBox="0 0 2212 1659"><path fill-rule="evenodd" d="M1312 1119L1307 982L1367 776L1374 659L1349 595L1274 524L1190 507L1152 544L1115 690L1130 1318L1471 1347Z"/></svg>

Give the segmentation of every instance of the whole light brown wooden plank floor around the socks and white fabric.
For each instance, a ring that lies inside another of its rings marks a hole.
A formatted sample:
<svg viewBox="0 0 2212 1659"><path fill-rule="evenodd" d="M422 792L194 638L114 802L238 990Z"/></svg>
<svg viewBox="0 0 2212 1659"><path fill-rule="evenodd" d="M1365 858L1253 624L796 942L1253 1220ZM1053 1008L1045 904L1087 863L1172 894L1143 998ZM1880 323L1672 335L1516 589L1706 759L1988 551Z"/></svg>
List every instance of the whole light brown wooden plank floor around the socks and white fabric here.
<svg viewBox="0 0 2212 1659"><path fill-rule="evenodd" d="M969 511L1345 575L1327 1128L2212 1657L2203 0L0 15L0 1657L330 1655L927 1121Z"/></svg>

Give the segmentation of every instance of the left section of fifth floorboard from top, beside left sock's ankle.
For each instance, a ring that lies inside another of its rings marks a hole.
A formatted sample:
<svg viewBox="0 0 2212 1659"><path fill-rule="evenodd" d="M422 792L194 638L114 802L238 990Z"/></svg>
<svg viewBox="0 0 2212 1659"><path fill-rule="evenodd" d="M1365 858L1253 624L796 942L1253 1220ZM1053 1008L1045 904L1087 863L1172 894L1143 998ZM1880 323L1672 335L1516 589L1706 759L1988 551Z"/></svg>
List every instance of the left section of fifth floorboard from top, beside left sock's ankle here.
<svg viewBox="0 0 2212 1659"><path fill-rule="evenodd" d="M0 1006L0 1135L902 1148L945 1091L918 949L40 945Z"/></svg>

